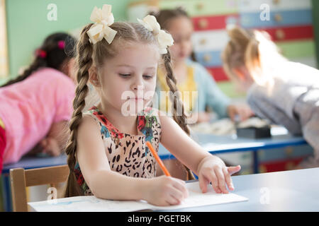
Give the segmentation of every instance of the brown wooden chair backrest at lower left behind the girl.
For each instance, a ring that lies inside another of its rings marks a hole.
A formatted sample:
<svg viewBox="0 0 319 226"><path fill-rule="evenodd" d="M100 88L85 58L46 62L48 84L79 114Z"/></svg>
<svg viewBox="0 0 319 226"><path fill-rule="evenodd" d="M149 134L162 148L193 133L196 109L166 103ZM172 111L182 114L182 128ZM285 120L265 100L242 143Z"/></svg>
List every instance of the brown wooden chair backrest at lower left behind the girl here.
<svg viewBox="0 0 319 226"><path fill-rule="evenodd" d="M56 167L43 167L38 169L10 169L11 194L13 211L28 211L26 187L43 184L55 184L66 182L69 176L69 167L60 165Z"/></svg>

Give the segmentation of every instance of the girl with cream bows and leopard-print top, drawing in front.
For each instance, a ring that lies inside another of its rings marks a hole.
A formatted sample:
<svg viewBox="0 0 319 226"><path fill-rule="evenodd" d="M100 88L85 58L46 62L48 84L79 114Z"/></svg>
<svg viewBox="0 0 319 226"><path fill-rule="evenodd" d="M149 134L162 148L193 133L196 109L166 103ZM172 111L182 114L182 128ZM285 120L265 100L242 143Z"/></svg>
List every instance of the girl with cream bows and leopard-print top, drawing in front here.
<svg viewBox="0 0 319 226"><path fill-rule="evenodd" d="M152 16L140 23L113 23L109 5L94 8L91 20L96 23L83 28L77 44L78 85L66 148L70 169L66 196L142 199L159 206L180 203L187 196L184 182L155 177L156 161L146 141L155 150L161 142L198 174L203 192L210 182L218 193L228 193L226 186L233 190L230 174L240 166L225 167L191 140L185 133L189 131L184 114L174 116L174 121L147 107L155 93L159 62L167 71L169 87L177 90L167 50L172 37ZM89 82L101 102L82 114ZM179 98L174 104L174 109L181 105ZM128 105L133 114L127 114ZM135 105L142 105L142 110Z"/></svg>

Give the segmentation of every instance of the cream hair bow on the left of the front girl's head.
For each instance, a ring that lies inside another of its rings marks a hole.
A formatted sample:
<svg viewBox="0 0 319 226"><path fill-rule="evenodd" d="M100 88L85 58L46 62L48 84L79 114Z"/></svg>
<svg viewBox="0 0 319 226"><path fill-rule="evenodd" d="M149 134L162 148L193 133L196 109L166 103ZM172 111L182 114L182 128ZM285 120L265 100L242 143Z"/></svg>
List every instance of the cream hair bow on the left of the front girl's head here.
<svg viewBox="0 0 319 226"><path fill-rule="evenodd" d="M94 7L90 20L95 22L94 25L86 32L89 35L91 43L96 44L105 38L108 44L111 44L117 31L109 28L114 23L113 13L111 13L111 5L103 5L102 9Z"/></svg>

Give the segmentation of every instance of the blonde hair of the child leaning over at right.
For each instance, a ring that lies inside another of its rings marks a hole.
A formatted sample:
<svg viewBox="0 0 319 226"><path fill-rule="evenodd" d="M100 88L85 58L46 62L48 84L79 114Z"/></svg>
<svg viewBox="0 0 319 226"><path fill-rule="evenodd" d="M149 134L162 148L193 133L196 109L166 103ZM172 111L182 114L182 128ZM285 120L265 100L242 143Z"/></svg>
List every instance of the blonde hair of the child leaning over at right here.
<svg viewBox="0 0 319 226"><path fill-rule="evenodd" d="M228 29L230 40L222 52L223 69L235 81L234 69L245 66L252 79L259 85L272 83L269 73L264 73L276 59L284 59L267 32L245 30L237 26Z"/></svg>

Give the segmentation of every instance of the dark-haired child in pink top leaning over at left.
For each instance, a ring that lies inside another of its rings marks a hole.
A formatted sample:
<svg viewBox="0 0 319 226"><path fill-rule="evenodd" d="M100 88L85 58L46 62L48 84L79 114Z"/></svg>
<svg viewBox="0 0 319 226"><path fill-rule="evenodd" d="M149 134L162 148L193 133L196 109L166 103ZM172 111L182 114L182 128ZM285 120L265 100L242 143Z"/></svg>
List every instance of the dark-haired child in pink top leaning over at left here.
<svg viewBox="0 0 319 226"><path fill-rule="evenodd" d="M67 141L62 130L72 115L75 40L58 32L36 50L21 76L0 88L0 172L31 149L60 155Z"/></svg>

